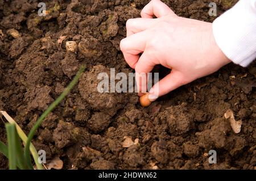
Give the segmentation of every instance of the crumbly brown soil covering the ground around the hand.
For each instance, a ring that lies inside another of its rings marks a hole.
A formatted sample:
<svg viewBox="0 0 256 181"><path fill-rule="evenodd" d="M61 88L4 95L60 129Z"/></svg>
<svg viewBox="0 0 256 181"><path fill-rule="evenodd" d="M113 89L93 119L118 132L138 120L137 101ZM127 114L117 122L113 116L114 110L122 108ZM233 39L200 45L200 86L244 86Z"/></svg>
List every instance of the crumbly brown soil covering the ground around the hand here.
<svg viewBox="0 0 256 181"><path fill-rule="evenodd" d="M28 133L36 119L71 82L82 64L86 70L71 94L44 121L33 144L55 156L64 169L255 169L255 63L230 64L163 96L148 108L136 93L97 92L97 75L110 68L132 72L119 42L127 19L137 18L146 0L38 1L0 0L0 110ZM164 1L177 15L212 22L209 1ZM218 15L231 0L217 3ZM14 28L20 37L7 31ZM65 37L62 45L59 37ZM68 52L65 41L76 41ZM159 68L163 72L163 68ZM232 131L224 113L242 120ZM123 148L124 137L139 139ZM0 122L0 140L6 142ZM207 153L217 151L217 164ZM0 168L7 159L0 155Z"/></svg>

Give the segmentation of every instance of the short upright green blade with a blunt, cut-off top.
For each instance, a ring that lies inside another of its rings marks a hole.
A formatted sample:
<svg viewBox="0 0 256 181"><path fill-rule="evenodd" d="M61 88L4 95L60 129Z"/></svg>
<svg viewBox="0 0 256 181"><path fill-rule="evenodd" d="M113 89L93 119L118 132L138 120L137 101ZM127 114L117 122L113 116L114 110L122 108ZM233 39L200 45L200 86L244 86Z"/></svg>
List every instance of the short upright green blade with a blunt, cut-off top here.
<svg viewBox="0 0 256 181"><path fill-rule="evenodd" d="M16 170L15 124L7 123L5 127L8 141L9 169Z"/></svg>

